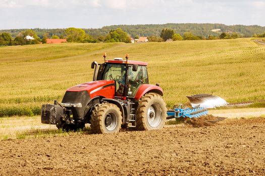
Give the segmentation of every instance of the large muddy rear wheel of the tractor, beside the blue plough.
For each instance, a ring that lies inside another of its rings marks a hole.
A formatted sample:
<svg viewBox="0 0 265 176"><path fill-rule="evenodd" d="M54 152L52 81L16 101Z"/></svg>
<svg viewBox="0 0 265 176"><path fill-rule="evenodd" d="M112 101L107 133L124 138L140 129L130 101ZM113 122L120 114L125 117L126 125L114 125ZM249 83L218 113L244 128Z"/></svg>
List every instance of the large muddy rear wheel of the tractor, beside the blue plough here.
<svg viewBox="0 0 265 176"><path fill-rule="evenodd" d="M136 113L137 130L159 130L167 118L166 103L155 93L145 94L139 101Z"/></svg>

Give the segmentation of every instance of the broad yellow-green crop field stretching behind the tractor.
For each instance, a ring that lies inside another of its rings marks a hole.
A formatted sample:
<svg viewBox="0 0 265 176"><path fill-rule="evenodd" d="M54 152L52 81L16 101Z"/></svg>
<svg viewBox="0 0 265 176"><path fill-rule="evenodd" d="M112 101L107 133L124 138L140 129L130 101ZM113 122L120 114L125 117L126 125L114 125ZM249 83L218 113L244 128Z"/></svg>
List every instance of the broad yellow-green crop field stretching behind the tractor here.
<svg viewBox="0 0 265 176"><path fill-rule="evenodd" d="M0 116L40 113L68 87L90 81L93 60L124 57L148 62L168 107L208 93L228 102L265 99L265 45L250 38L162 43L63 43L0 47Z"/></svg>

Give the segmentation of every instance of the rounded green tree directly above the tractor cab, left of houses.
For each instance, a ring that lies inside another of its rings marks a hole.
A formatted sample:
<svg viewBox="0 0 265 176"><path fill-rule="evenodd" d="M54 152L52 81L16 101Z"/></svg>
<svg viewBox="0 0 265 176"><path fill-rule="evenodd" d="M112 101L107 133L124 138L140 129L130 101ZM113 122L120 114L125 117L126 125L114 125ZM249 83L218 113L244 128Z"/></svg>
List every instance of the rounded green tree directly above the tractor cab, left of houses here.
<svg viewBox="0 0 265 176"><path fill-rule="evenodd" d="M117 28L116 30L111 30L110 31L110 33L106 37L105 42L131 43L131 38L121 28Z"/></svg>

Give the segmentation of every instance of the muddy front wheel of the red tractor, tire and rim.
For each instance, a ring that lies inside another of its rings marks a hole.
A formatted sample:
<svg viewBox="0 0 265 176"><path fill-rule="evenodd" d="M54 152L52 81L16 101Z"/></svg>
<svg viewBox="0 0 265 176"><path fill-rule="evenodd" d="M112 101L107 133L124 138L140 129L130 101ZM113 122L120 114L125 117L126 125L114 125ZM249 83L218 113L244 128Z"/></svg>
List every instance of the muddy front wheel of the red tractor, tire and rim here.
<svg viewBox="0 0 265 176"><path fill-rule="evenodd" d="M111 103L97 105L92 111L90 123L95 134L117 133L121 130L122 112Z"/></svg>

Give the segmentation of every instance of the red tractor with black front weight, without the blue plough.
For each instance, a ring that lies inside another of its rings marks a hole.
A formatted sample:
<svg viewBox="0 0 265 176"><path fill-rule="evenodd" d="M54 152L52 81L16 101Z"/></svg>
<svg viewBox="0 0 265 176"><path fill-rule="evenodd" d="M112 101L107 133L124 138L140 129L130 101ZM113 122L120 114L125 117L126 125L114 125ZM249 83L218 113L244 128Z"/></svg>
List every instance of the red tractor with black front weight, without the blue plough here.
<svg viewBox="0 0 265 176"><path fill-rule="evenodd" d="M70 87L61 104L42 105L41 122L66 131L90 123L93 133L163 128L167 117L163 90L148 84L147 63L128 60L128 55L126 60L105 56L104 63L91 64L93 81Z"/></svg>

